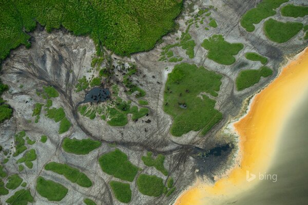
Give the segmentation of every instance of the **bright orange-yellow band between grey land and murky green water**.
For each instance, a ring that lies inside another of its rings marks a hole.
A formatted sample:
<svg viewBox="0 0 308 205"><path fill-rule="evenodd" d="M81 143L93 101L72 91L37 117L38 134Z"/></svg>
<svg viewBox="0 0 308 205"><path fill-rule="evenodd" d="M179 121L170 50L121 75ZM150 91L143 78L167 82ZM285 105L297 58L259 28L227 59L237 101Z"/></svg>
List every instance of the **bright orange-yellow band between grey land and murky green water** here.
<svg viewBox="0 0 308 205"><path fill-rule="evenodd" d="M175 204L213 205L232 202L228 200L253 188L259 181L259 173L265 173L271 164L281 130L307 89L308 48L254 97L248 113L234 124L240 136L240 166L214 185L198 180ZM256 174L257 179L248 182L247 170Z"/></svg>

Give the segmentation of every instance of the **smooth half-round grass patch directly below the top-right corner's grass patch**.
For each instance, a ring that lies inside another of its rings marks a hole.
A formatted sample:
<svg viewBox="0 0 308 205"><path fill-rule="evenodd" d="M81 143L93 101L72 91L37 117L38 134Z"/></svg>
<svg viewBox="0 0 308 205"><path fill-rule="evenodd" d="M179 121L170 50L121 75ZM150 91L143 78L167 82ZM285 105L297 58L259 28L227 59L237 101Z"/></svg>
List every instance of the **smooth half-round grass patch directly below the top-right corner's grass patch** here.
<svg viewBox="0 0 308 205"><path fill-rule="evenodd" d="M264 23L265 35L268 39L276 43L285 43L294 37L303 28L302 23L279 22L273 18Z"/></svg>

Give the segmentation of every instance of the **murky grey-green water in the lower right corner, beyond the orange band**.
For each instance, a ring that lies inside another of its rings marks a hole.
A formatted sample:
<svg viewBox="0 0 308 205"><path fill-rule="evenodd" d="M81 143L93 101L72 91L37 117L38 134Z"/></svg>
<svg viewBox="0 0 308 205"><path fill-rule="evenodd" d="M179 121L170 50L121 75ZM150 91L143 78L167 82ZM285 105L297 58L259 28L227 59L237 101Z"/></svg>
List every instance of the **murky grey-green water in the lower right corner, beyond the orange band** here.
<svg viewBox="0 0 308 205"><path fill-rule="evenodd" d="M279 138L274 162L259 176L263 180L242 197L223 204L305 205L308 204L308 92L305 100L287 121ZM275 178L277 175L277 181ZM257 174L257 177L259 177ZM266 179L264 179L266 176ZM271 179L272 177L272 179Z"/></svg>

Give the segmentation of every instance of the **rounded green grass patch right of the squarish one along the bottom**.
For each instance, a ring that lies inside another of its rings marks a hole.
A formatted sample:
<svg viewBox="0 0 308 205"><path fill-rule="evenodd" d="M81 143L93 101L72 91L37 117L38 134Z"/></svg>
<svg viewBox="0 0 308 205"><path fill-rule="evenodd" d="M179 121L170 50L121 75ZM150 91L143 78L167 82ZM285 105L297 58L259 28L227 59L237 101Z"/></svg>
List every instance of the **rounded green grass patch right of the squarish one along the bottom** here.
<svg viewBox="0 0 308 205"><path fill-rule="evenodd" d="M165 187L162 178L147 174L140 174L137 186L140 193L155 197L161 196Z"/></svg>

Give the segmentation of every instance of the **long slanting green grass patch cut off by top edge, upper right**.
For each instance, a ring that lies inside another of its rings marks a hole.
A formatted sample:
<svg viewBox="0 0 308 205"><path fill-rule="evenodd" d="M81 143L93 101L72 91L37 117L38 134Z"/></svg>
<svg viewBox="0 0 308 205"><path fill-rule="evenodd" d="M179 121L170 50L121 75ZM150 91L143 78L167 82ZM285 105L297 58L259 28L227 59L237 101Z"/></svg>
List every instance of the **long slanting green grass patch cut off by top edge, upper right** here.
<svg viewBox="0 0 308 205"><path fill-rule="evenodd" d="M254 24L259 24L261 20L276 14L277 9L281 4L288 0L263 0L256 8L248 10L241 18L241 25L246 31L252 32L255 30Z"/></svg>

